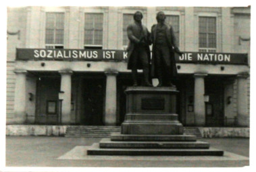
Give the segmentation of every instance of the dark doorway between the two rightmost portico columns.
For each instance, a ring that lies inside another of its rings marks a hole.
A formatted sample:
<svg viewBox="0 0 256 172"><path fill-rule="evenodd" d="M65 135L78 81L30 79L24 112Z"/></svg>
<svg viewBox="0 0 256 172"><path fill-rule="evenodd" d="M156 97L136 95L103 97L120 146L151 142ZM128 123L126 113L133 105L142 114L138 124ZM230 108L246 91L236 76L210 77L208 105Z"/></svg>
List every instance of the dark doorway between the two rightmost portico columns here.
<svg viewBox="0 0 256 172"><path fill-rule="evenodd" d="M209 102L205 103L205 125L224 126L223 79L205 78L205 95L209 95Z"/></svg>

